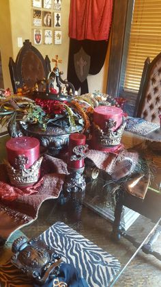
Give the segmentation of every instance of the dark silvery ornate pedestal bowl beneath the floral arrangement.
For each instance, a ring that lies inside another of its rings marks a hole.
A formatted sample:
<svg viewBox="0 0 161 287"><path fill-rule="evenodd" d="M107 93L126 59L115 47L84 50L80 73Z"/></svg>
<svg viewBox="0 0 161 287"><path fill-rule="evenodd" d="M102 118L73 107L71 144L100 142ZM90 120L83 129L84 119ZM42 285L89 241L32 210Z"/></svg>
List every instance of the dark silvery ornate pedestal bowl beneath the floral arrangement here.
<svg viewBox="0 0 161 287"><path fill-rule="evenodd" d="M56 125L47 125L46 130L42 130L39 125L27 125L20 123L20 130L25 136L33 136L40 140L40 145L47 149L49 155L58 155L60 151L68 147L69 136L74 132L81 132L82 125L76 127L66 126L57 127Z"/></svg>

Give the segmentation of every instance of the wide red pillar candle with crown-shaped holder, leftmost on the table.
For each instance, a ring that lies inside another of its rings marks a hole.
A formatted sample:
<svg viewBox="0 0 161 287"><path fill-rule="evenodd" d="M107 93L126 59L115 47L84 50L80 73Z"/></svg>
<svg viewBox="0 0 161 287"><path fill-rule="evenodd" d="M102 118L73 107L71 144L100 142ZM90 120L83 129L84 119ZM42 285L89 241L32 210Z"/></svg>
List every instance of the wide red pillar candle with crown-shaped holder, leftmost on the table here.
<svg viewBox="0 0 161 287"><path fill-rule="evenodd" d="M40 142L37 138L22 136L6 142L8 160L5 166L10 183L19 188L27 188L38 182L40 177Z"/></svg>

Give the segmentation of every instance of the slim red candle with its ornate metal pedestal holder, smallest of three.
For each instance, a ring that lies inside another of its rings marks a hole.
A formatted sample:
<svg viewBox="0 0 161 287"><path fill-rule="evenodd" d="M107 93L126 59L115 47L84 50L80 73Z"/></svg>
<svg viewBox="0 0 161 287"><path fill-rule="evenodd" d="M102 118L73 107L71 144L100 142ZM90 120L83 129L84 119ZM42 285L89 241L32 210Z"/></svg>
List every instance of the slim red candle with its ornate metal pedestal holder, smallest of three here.
<svg viewBox="0 0 161 287"><path fill-rule="evenodd" d="M85 190L85 178L83 171L85 169L85 152L88 145L85 145L86 136L84 134L70 134L69 141L69 175L65 182L67 192L77 192Z"/></svg>

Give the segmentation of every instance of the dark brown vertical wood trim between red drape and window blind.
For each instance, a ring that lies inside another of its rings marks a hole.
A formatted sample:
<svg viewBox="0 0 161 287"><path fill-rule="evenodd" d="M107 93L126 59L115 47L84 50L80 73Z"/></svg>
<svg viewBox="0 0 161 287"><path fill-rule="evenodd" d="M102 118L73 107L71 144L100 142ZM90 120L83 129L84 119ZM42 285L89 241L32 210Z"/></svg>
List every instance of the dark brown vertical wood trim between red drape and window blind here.
<svg viewBox="0 0 161 287"><path fill-rule="evenodd" d="M107 94L119 96L121 71L125 70L134 0L115 0Z"/></svg>

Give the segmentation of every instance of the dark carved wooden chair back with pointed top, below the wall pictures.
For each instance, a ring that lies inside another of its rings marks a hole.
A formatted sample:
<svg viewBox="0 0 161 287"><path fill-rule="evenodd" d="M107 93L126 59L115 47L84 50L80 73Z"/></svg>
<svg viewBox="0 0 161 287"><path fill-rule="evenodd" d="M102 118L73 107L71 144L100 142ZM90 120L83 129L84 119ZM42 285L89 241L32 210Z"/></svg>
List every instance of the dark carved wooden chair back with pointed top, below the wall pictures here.
<svg viewBox="0 0 161 287"><path fill-rule="evenodd" d="M9 61L10 77L14 94L17 88L27 85L32 88L36 82L48 77L50 73L50 60L48 55L44 59L38 49L25 40L23 47L18 52L16 62L12 58Z"/></svg>

